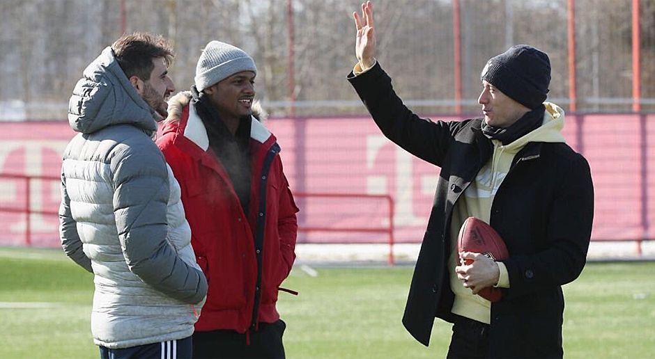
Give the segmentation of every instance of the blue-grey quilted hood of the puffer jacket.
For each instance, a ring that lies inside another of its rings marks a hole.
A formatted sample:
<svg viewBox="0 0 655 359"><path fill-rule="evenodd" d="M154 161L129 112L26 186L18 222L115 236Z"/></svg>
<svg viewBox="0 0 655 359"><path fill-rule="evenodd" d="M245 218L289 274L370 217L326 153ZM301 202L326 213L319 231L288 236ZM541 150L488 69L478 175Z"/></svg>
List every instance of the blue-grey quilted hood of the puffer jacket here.
<svg viewBox="0 0 655 359"><path fill-rule="evenodd" d="M125 76L111 47L86 67L68 102L68 124L83 134L126 124L152 135L159 117Z"/></svg>

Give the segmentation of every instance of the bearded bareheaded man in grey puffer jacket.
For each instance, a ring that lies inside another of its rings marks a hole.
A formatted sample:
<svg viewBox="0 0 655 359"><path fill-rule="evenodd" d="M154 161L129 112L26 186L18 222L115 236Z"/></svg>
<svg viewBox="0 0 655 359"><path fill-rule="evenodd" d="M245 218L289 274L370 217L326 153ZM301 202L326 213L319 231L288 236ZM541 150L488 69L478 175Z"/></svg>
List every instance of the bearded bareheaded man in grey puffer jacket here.
<svg viewBox="0 0 655 359"><path fill-rule="evenodd" d="M70 97L79 132L61 169L60 237L95 274L91 331L101 358L190 358L207 292L180 186L153 142L174 91L166 40L124 35Z"/></svg>

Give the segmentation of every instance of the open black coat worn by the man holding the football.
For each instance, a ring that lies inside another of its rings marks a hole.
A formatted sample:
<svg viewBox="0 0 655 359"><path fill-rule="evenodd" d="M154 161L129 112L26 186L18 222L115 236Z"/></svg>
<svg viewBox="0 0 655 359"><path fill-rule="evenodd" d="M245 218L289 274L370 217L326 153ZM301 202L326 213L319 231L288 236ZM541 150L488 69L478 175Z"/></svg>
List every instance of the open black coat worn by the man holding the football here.
<svg viewBox="0 0 655 359"><path fill-rule="evenodd" d="M434 317L452 321L454 294L447 258L452 210L490 159L481 118L444 122L419 118L402 103L376 64L348 81L387 138L441 167L433 207L410 287L403 324L428 345ZM565 143L527 143L516 154L491 207L504 239L511 288L491 305L492 357L561 357L562 285L585 266L594 214L589 164ZM453 230L459 230L454 228Z"/></svg>

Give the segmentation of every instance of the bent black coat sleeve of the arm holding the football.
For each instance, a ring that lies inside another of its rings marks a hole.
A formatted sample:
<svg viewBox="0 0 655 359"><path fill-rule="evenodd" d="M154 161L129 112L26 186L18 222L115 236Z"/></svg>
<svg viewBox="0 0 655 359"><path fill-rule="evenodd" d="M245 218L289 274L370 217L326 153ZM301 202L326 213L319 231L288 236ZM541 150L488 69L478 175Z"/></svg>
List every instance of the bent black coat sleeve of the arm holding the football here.
<svg viewBox="0 0 655 359"><path fill-rule="evenodd" d="M548 249L502 261L508 298L572 282L583 271L594 217L594 185L587 160L578 155L556 189L547 222Z"/></svg>

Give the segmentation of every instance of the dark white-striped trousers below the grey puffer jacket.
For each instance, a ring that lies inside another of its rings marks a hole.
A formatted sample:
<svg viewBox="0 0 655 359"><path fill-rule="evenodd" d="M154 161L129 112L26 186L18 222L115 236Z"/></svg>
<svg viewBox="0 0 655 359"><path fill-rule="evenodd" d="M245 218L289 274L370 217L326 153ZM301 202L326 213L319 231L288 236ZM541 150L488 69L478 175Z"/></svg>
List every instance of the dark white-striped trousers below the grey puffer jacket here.
<svg viewBox="0 0 655 359"><path fill-rule="evenodd" d="M190 359L192 352L192 339L186 337L123 349L100 346L100 359Z"/></svg>

